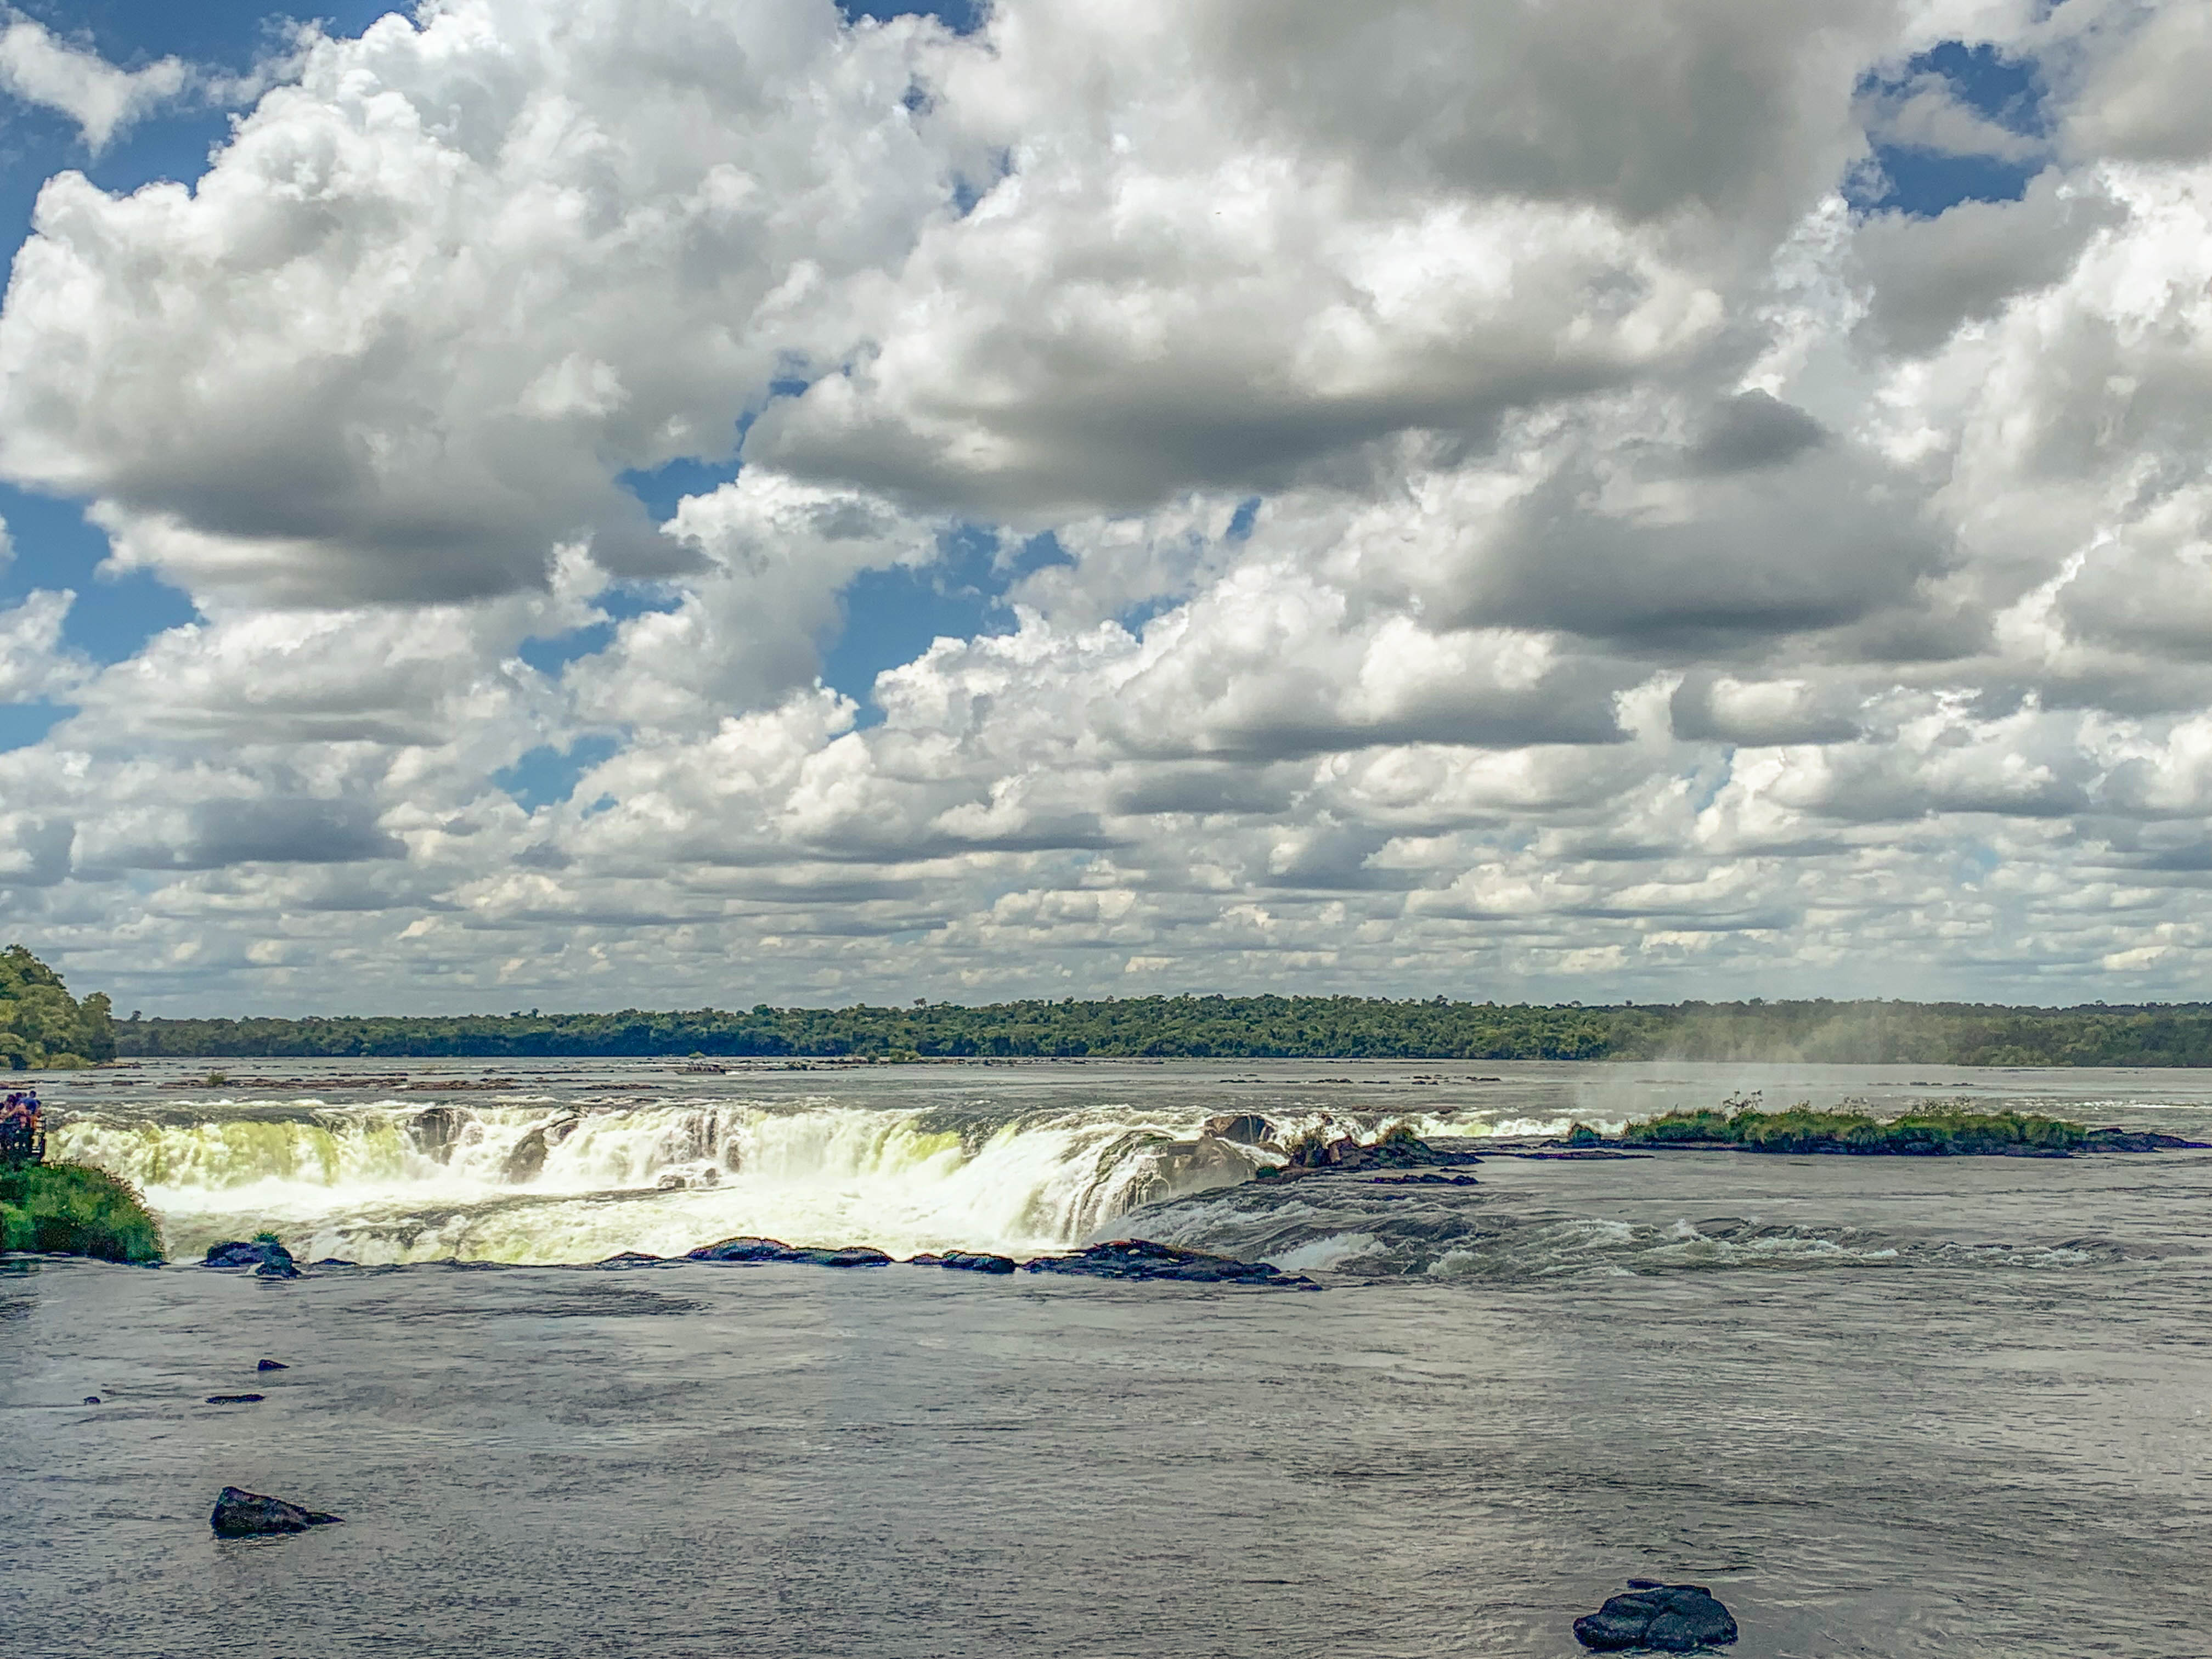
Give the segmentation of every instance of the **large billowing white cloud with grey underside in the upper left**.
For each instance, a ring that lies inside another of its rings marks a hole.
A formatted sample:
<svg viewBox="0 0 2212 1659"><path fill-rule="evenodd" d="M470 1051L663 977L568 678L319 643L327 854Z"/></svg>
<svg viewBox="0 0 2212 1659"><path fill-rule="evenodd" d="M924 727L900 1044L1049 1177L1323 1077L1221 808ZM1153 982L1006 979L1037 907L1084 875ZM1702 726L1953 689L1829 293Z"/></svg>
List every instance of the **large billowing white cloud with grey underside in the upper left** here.
<svg viewBox="0 0 2212 1659"><path fill-rule="evenodd" d="M467 0L312 40L192 188L40 195L0 471L124 566L268 604L451 602L586 542L692 566L626 469L726 458L949 212L936 24Z"/></svg>

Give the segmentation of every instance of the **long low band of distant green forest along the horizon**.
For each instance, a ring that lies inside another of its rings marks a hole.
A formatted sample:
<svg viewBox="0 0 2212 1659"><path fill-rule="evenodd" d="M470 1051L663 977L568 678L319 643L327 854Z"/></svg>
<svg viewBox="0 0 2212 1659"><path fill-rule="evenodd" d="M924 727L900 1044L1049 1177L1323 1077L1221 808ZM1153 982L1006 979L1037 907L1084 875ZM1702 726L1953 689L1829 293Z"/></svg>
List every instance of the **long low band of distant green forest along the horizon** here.
<svg viewBox="0 0 2212 1659"><path fill-rule="evenodd" d="M128 1020L124 1055L524 1060L951 1055L1206 1060L1825 1060L2212 1066L2212 1004L1966 1002L1502 1006L1378 998L1115 998L909 1009L695 1009L319 1020Z"/></svg>

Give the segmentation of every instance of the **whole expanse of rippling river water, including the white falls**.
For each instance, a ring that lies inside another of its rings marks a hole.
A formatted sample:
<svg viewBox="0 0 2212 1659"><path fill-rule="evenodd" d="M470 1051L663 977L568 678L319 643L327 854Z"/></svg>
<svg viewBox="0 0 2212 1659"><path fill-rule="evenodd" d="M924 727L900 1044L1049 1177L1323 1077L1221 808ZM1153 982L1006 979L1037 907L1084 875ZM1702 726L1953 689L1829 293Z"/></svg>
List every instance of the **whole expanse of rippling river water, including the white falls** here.
<svg viewBox="0 0 2212 1659"><path fill-rule="evenodd" d="M321 1082L46 1093L175 1252L416 1265L0 1272L0 1652L1564 1659L1630 1575L1712 1584L1745 1659L2212 1652L2208 1152L1172 1190L1217 1113L1535 1133L1763 1088L2212 1139L2190 1073L230 1071ZM734 1232L1137 1234L1327 1287L482 1265ZM226 1482L347 1524L219 1544Z"/></svg>

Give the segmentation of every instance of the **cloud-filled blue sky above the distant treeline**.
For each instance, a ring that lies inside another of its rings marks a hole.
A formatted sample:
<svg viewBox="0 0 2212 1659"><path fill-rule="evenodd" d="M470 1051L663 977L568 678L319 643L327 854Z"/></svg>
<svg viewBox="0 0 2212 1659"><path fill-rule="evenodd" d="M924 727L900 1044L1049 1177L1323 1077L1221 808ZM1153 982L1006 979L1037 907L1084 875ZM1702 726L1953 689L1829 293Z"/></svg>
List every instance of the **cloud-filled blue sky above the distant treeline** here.
<svg viewBox="0 0 2212 1659"><path fill-rule="evenodd" d="M2205 84L2141 0L0 4L0 938L2203 998Z"/></svg>

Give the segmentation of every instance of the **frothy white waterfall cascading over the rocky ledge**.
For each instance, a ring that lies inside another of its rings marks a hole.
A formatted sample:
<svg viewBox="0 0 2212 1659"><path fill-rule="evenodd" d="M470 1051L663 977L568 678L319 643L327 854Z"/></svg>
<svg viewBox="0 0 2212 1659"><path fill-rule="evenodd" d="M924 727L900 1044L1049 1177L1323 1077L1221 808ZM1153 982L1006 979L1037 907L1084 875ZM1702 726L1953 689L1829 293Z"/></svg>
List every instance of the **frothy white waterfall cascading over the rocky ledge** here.
<svg viewBox="0 0 2212 1659"><path fill-rule="evenodd" d="M1281 1161L1228 1141L1197 1150L1197 1115L1159 1106L947 1126L925 1108L834 1099L285 1099L80 1115L60 1126L58 1155L135 1181L177 1259L268 1228L310 1259L571 1263L732 1234L894 1254L1057 1250L1141 1203Z"/></svg>

